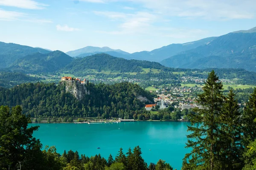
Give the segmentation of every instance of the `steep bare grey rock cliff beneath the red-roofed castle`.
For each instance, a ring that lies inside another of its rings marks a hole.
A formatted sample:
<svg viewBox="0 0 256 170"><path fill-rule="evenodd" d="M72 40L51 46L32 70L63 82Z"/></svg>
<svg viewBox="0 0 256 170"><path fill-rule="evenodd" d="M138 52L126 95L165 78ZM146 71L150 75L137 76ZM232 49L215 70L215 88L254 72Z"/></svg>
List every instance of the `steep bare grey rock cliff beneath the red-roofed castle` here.
<svg viewBox="0 0 256 170"><path fill-rule="evenodd" d="M75 81L63 81L61 84L66 86L66 92L73 94L78 100L81 100L85 95L90 94L90 91L87 90L85 84L79 84Z"/></svg>

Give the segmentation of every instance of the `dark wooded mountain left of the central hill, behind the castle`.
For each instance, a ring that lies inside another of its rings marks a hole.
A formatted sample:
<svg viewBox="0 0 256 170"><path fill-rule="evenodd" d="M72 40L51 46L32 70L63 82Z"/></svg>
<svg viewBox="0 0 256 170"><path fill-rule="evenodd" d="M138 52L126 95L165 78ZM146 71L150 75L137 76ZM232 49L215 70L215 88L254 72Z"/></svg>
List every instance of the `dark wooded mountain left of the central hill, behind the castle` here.
<svg viewBox="0 0 256 170"><path fill-rule="evenodd" d="M17 59L9 69L23 73L49 73L63 68L72 61L72 57L61 51L52 51L47 54L34 53Z"/></svg>

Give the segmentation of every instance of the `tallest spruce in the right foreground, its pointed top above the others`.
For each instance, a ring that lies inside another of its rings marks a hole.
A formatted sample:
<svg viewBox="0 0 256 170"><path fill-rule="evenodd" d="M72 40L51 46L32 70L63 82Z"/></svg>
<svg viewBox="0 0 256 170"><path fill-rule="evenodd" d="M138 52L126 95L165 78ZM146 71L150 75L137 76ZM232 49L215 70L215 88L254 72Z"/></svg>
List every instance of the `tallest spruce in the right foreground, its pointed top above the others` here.
<svg viewBox="0 0 256 170"><path fill-rule="evenodd" d="M219 166L216 158L220 150L218 140L223 137L219 128L224 102L223 85L214 71L208 74L204 83L204 92L198 95L201 108L195 108L195 114L190 115L191 126L188 126L188 131L192 133L187 135L186 148L192 150L184 158L183 169L214 170Z"/></svg>

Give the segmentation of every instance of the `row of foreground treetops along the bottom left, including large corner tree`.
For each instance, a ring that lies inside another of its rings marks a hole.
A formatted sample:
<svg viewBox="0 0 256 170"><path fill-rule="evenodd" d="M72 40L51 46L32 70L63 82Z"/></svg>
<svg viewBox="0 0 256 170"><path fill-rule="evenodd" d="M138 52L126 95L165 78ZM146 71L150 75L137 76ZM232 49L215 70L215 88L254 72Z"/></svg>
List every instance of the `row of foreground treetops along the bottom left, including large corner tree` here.
<svg viewBox="0 0 256 170"><path fill-rule="evenodd" d="M170 164L159 160L157 164L145 163L139 146L123 153L120 148L115 158L108 160L100 154L85 156L72 150L61 155L54 146L42 149L39 139L32 136L39 126L28 127L30 118L22 108L0 106L0 170L173 170Z"/></svg>

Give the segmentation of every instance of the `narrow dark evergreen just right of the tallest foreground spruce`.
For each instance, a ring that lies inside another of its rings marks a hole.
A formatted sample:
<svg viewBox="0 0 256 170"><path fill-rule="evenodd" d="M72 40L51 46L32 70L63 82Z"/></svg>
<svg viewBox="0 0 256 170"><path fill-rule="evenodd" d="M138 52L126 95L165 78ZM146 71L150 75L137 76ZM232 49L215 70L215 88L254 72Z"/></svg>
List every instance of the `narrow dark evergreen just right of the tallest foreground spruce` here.
<svg viewBox="0 0 256 170"><path fill-rule="evenodd" d="M221 130L225 136L219 141L222 146L221 155L218 156L222 165L221 170L241 170L243 166L241 160L243 145L240 116L239 105L231 88L224 103L221 119L223 123Z"/></svg>

